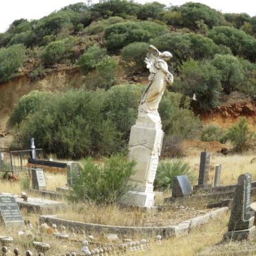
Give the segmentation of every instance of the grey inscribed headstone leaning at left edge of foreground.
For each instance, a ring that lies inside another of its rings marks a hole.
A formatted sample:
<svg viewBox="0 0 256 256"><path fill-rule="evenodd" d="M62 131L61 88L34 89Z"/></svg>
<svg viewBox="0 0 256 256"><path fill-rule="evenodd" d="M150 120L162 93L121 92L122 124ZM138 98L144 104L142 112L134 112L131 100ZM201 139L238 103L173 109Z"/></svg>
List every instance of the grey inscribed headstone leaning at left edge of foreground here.
<svg viewBox="0 0 256 256"><path fill-rule="evenodd" d="M23 226L24 220L13 196L0 195L0 212L1 220L6 227Z"/></svg>

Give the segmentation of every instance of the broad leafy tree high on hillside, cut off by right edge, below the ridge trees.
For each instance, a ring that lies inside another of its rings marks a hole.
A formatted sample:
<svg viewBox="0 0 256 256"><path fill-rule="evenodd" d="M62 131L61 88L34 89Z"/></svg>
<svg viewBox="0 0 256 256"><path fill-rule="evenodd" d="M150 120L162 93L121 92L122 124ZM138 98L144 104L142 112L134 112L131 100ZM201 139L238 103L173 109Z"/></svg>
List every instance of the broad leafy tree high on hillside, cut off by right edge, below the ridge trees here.
<svg viewBox="0 0 256 256"><path fill-rule="evenodd" d="M218 26L209 32L209 37L218 45L230 47L233 54L255 61L256 39L242 30L233 27Z"/></svg>

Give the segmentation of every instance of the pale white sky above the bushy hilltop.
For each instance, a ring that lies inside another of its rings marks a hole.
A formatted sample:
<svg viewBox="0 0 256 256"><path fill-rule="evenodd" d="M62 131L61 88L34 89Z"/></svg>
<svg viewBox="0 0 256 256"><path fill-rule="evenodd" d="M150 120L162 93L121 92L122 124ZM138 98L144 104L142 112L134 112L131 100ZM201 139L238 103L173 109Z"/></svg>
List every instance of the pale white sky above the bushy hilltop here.
<svg viewBox="0 0 256 256"><path fill-rule="evenodd" d="M5 32L15 19L40 19L54 10L59 10L71 3L83 0L0 0L0 32ZM139 3L149 3L154 0L134 0ZM167 6L180 6L189 0L155 0ZM191 1L191 0L190 0ZM193 1L193 0L192 0ZM93 1L97 3L97 0ZM211 8L222 12L246 12L250 16L256 15L255 0L198 0Z"/></svg>

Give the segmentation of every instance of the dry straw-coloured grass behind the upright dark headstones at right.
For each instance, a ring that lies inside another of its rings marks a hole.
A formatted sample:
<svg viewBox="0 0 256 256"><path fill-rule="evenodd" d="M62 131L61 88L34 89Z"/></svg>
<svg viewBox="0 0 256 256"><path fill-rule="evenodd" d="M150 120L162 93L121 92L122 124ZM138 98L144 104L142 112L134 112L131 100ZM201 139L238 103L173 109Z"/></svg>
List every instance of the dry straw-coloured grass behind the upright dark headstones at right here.
<svg viewBox="0 0 256 256"><path fill-rule="evenodd" d="M221 185L236 184L238 176L242 173L250 173L252 175L252 180L256 180L256 161L252 164L250 163L250 160L252 160L253 158L255 158L255 155L211 155L209 184L213 185L216 164L222 164L220 178ZM183 158L183 160L192 167L193 175L195 175L195 180L193 181L193 183L197 183L200 156L190 156L189 158Z"/></svg>

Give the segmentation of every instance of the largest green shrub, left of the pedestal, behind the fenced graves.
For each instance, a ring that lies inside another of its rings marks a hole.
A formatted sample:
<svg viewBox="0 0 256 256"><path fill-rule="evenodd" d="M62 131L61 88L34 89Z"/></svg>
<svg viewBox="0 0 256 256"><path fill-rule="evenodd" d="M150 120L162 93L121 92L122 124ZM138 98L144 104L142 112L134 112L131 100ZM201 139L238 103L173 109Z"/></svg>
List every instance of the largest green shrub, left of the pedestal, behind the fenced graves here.
<svg viewBox="0 0 256 256"><path fill-rule="evenodd" d="M45 153L79 159L108 155L122 146L120 134L104 115L104 90L71 90L52 94L19 126L18 140L28 147L31 137ZM19 105L19 103L18 103Z"/></svg>

